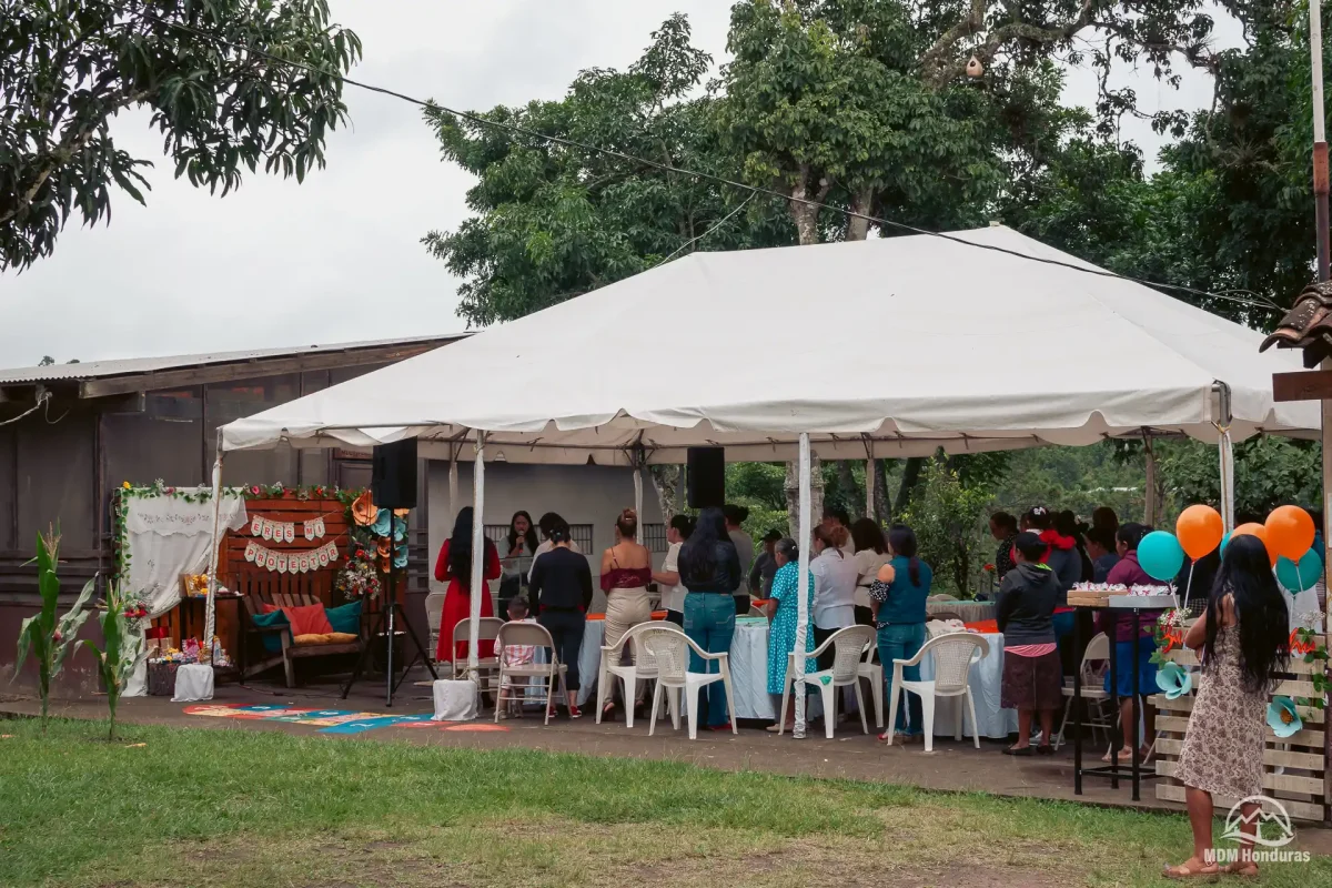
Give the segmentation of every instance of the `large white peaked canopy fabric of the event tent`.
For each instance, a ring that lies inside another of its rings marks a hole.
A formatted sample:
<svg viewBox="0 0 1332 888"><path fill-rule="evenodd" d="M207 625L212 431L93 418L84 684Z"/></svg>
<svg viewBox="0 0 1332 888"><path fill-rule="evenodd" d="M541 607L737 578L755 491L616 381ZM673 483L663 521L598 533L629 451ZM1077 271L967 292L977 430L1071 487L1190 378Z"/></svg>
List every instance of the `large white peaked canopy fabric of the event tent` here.
<svg viewBox="0 0 1332 888"><path fill-rule="evenodd" d="M1275 403L1261 333L1003 226L694 253L461 342L228 423L225 450L418 437L456 458L681 463L926 455L1185 434L1315 435Z"/></svg>

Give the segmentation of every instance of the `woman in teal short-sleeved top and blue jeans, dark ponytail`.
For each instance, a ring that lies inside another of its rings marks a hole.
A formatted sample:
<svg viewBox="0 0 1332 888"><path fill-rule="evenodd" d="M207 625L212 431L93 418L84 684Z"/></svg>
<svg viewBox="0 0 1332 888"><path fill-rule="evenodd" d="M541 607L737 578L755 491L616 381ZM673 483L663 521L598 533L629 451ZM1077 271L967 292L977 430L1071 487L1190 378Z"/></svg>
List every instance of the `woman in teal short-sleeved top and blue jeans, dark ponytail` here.
<svg viewBox="0 0 1332 888"><path fill-rule="evenodd" d="M892 560L879 568L870 586L870 610L874 611L874 626L879 631L883 675L891 682L892 660L910 660L924 647L924 600L930 596L934 571L916 558L915 533L906 525L894 525L888 531L888 551ZM902 679L919 682L920 667L903 667ZM890 699L891 691L890 687ZM918 743L924 736L920 727L920 698L903 691L899 699L892 724L879 739L887 740L895 731L899 742Z"/></svg>

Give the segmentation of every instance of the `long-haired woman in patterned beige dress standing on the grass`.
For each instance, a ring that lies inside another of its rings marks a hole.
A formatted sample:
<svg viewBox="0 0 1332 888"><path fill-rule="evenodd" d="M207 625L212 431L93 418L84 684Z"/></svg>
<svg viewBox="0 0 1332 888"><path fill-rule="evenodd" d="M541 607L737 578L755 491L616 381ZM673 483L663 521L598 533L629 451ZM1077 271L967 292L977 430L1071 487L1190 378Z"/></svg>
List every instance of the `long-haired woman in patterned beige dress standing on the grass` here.
<svg viewBox="0 0 1332 888"><path fill-rule="evenodd" d="M1197 651L1203 676L1175 777L1184 784L1193 856L1167 867L1167 879L1192 876L1257 876L1253 836L1257 805L1241 809L1239 860L1221 868L1212 849L1212 796L1247 799L1263 793L1267 744L1267 696L1291 658L1285 598L1272 578L1267 546L1257 537L1235 537L1221 556L1221 570L1203 614L1184 634Z"/></svg>

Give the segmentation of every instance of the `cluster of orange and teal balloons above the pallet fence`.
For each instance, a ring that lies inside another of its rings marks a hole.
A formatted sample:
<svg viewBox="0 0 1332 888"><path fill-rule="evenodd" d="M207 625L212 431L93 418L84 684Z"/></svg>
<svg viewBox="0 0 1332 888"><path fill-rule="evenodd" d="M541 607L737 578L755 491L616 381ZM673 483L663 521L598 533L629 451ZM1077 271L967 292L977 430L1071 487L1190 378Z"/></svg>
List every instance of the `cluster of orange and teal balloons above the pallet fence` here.
<svg viewBox="0 0 1332 888"><path fill-rule="evenodd" d="M1138 545L1138 563L1154 579L1168 582L1184 567L1184 556L1197 560L1235 537L1257 537L1267 547L1276 578L1292 592L1313 588L1323 575L1323 558L1313 549L1313 518L1299 506L1279 506L1267 523L1240 525L1224 531L1221 515L1211 506L1189 506L1175 522L1175 533L1154 530Z"/></svg>

